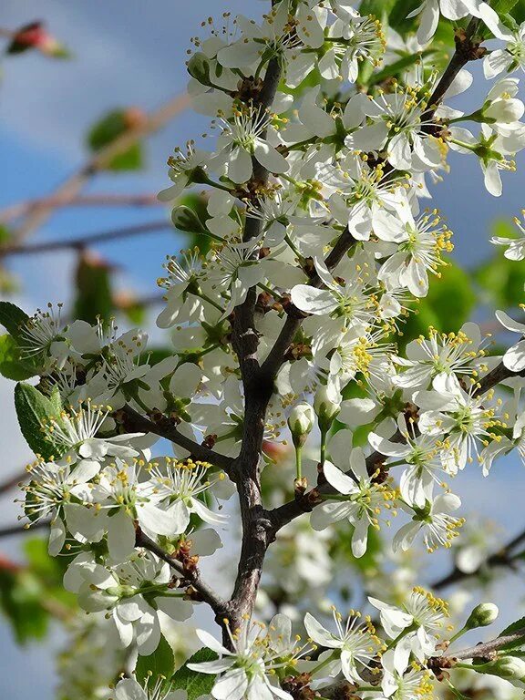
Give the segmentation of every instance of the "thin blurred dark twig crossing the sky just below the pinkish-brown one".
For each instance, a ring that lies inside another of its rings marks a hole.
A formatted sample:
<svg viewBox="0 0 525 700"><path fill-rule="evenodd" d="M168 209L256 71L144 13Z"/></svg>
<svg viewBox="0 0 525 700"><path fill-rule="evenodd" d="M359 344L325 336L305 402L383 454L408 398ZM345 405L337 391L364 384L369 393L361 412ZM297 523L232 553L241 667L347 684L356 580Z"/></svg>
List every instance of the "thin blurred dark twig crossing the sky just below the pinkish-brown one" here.
<svg viewBox="0 0 525 700"><path fill-rule="evenodd" d="M0 258L7 255L35 255L42 252L54 252L65 248L81 250L96 243L106 243L116 241L119 238L129 238L140 236L144 233L152 233L172 229L173 225L167 219L160 221L149 221L149 223L139 223L134 226L123 226L119 229L110 229L99 233L88 233L77 238L64 241L43 241L26 245L5 245L0 247Z"/></svg>

